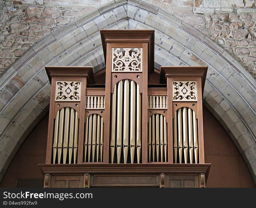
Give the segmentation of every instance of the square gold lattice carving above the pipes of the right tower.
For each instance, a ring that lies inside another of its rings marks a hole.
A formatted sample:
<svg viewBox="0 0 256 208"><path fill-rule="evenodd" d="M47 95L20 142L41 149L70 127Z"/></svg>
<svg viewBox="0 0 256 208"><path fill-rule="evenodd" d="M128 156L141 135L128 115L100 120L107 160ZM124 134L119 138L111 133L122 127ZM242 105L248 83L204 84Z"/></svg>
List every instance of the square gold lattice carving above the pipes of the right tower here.
<svg viewBox="0 0 256 208"><path fill-rule="evenodd" d="M175 101L197 101L196 81L173 82L173 100Z"/></svg>

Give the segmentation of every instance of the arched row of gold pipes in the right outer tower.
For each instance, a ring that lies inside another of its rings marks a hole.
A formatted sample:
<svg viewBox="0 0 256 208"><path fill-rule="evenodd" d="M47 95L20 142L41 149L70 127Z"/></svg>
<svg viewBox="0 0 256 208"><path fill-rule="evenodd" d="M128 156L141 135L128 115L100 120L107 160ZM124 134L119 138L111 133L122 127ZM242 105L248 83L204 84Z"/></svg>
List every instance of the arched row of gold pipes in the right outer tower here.
<svg viewBox="0 0 256 208"><path fill-rule="evenodd" d="M198 127L195 112L179 108L173 119L174 163L198 163Z"/></svg>

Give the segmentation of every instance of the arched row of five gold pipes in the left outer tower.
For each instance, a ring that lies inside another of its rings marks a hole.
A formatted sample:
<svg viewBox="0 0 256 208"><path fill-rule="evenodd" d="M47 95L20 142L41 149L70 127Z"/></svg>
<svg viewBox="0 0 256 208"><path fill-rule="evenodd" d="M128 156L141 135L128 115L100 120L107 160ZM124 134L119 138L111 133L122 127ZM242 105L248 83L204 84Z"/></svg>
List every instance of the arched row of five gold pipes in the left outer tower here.
<svg viewBox="0 0 256 208"><path fill-rule="evenodd" d="M61 108L54 122L53 164L77 163L78 130L77 112L70 107Z"/></svg>

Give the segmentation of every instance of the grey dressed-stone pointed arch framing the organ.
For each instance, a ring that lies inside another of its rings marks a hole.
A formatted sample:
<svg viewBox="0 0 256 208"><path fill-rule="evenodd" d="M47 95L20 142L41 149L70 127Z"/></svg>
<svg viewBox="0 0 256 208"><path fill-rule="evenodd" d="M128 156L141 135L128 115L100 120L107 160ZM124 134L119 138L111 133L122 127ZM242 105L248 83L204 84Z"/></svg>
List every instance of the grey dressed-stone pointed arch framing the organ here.
<svg viewBox="0 0 256 208"><path fill-rule="evenodd" d="M55 31L0 78L0 179L17 149L47 113L44 66L104 66L99 29L154 29L155 67L207 65L204 104L230 134L256 182L256 82L223 48L150 4L113 1Z"/></svg>

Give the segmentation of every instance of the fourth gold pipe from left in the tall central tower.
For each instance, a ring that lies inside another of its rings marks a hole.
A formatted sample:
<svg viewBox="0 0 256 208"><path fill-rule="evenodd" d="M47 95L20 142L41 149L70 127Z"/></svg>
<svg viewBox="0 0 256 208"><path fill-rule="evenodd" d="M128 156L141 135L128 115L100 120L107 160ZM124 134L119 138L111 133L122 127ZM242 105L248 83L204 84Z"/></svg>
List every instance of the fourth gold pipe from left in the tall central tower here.
<svg viewBox="0 0 256 208"><path fill-rule="evenodd" d="M130 112L130 155L131 163L134 163L135 142L136 142L136 84L131 80L131 112Z"/></svg>

